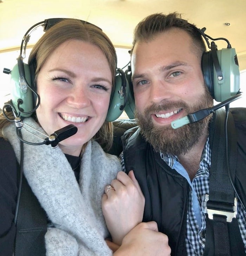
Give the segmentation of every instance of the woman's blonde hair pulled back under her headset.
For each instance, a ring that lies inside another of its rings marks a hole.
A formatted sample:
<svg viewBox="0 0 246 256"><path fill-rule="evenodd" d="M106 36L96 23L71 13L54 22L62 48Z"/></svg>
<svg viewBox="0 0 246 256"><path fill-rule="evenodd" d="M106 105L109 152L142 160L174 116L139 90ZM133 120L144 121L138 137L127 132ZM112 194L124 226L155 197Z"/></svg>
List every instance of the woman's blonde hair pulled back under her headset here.
<svg viewBox="0 0 246 256"><path fill-rule="evenodd" d="M63 19L45 32L39 41L33 46L28 58L28 65L34 67L35 75L33 86L35 86L40 69L51 53L67 40L82 40L99 47L104 53L112 74L112 92L114 91L115 76L117 68L117 56L114 45L110 39L97 26L83 23L77 19ZM9 124L3 114L0 114L0 136L2 128ZM108 150L112 145L113 138L112 123L105 121L93 137L100 145Z"/></svg>

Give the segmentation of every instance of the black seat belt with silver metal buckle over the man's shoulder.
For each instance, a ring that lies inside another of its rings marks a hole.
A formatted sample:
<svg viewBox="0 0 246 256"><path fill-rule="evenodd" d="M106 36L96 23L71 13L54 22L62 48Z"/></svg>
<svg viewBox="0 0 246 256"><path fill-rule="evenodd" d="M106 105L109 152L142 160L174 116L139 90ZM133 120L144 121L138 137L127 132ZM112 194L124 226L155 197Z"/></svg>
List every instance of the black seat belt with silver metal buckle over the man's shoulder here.
<svg viewBox="0 0 246 256"><path fill-rule="evenodd" d="M209 178L209 195L206 195L205 198L207 213L204 255L245 255L244 244L236 218L237 198L235 198L235 192L227 171L224 130L225 110L217 110L214 118L215 127L212 127L209 135L213 141L213 154ZM229 169L234 181L237 159L237 133L234 119L230 112L227 130Z"/></svg>

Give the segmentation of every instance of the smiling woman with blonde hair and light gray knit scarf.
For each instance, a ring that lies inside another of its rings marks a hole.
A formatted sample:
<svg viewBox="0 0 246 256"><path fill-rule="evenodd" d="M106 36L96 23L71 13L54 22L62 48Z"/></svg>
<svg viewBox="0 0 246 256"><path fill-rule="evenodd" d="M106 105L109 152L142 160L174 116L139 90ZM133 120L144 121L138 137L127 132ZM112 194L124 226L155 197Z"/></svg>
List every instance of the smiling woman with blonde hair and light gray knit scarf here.
<svg viewBox="0 0 246 256"><path fill-rule="evenodd" d="M104 240L110 235L101 198L106 184L116 178L121 166L100 145L110 148L112 143L111 123L105 118L114 90L115 49L96 26L65 19L47 30L35 44L28 64L35 67L33 86L37 86L40 105L23 122L47 135L68 124L78 128L75 135L61 141L55 149L24 143L23 179L48 219L47 230L38 233L36 241L29 241L28 246L35 246L45 235L45 249L37 250L35 255L112 255ZM19 237L14 212L21 154L15 124L2 113L0 132L0 248L2 255L12 255L15 235L17 240ZM25 131L22 136L26 141L40 142ZM144 204L141 191L135 199ZM28 209L26 213L28 216ZM132 228L139 222L134 222ZM149 237L155 231L154 223L138 225L125 236L115 255L135 255L143 239L144 250L153 247ZM16 254L18 246L15 244Z"/></svg>

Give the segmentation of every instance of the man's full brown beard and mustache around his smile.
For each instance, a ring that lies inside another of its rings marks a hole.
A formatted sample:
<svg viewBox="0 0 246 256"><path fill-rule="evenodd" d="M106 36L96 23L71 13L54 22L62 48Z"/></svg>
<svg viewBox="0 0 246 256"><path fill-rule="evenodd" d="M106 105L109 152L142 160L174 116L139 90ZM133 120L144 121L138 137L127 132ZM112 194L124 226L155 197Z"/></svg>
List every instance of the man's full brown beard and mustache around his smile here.
<svg viewBox="0 0 246 256"><path fill-rule="evenodd" d="M194 105L188 105L184 101L163 101L160 104L152 104L144 110L143 114L140 114L136 110L135 116L138 119L141 134L145 140L153 146L156 152L161 151L171 155L180 155L189 152L190 149L199 141L201 135L203 135L204 132L207 132L205 128L207 127L209 120L212 118L212 115L209 115L198 122L186 124L178 129L173 129L171 128L171 124L168 126L154 125L151 119L151 114L180 108L186 110L188 114L192 114L197 110L212 106L213 98L206 87L205 93L200 97L200 99L196 100Z"/></svg>

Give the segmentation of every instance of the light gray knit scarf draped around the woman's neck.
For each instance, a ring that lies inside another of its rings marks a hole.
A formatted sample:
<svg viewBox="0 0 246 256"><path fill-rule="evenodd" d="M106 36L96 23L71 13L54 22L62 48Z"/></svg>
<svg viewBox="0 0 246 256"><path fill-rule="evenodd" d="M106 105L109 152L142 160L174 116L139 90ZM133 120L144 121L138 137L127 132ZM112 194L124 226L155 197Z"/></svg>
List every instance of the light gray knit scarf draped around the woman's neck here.
<svg viewBox="0 0 246 256"><path fill-rule="evenodd" d="M32 119L25 123L45 133ZM22 129L23 130L23 129ZM15 125L3 130L20 162L20 141ZM25 140L40 142L23 130ZM121 165L116 156L104 153L89 141L81 159L79 184L59 147L24 143L24 175L54 228L45 235L48 256L112 255L104 238L109 236L102 214L104 187L116 178Z"/></svg>

